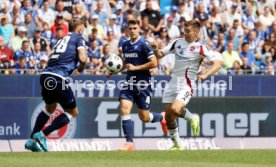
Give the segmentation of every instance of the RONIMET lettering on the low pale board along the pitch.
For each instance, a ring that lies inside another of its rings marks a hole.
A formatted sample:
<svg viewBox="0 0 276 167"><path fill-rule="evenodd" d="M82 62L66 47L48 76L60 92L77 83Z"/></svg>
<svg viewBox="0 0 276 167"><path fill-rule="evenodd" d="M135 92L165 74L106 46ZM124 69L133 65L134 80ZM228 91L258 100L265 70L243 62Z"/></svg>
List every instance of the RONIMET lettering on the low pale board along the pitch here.
<svg viewBox="0 0 276 167"><path fill-rule="evenodd" d="M48 147L51 151L109 151L111 150L111 141L48 141Z"/></svg>

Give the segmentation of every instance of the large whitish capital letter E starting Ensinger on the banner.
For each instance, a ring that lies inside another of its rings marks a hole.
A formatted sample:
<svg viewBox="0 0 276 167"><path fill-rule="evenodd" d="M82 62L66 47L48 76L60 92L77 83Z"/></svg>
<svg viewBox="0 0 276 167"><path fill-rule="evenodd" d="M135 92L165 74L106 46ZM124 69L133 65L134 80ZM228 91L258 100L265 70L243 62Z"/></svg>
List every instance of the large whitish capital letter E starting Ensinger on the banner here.
<svg viewBox="0 0 276 167"><path fill-rule="evenodd" d="M108 113L108 109L117 109L119 102L102 102L98 107L98 115L95 121L98 122L98 135L100 137L119 136L118 129L108 129L108 122L115 122L119 114Z"/></svg>

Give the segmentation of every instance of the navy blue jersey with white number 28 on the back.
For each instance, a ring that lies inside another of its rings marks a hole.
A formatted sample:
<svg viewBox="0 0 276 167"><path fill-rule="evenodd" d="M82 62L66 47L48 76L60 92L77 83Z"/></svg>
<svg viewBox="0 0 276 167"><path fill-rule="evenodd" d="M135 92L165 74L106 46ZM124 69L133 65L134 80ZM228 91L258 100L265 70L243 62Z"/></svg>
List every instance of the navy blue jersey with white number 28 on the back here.
<svg viewBox="0 0 276 167"><path fill-rule="evenodd" d="M50 55L47 67L43 72L50 72L68 77L76 69L78 48L85 48L85 41L81 34L69 33L55 44Z"/></svg>

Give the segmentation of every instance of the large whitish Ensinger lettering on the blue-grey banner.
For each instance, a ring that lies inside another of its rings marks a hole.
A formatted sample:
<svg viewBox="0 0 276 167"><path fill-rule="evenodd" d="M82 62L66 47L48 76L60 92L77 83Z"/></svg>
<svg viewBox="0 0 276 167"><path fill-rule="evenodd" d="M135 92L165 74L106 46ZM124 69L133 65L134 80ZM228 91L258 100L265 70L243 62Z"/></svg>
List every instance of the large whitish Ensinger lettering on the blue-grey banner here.
<svg viewBox="0 0 276 167"><path fill-rule="evenodd" d="M109 123L120 122L119 102L103 101L98 107L95 119L98 123L98 136L123 137L120 127L108 127ZM109 109L118 110L118 113L108 113ZM201 116L201 134L208 137L225 136L259 136L260 122L265 121L269 113L204 113ZM133 121L134 137L160 137L162 129L158 123L142 123L136 113L131 114ZM191 128L187 121L178 119L180 136L192 136ZM188 134L188 132L190 132Z"/></svg>

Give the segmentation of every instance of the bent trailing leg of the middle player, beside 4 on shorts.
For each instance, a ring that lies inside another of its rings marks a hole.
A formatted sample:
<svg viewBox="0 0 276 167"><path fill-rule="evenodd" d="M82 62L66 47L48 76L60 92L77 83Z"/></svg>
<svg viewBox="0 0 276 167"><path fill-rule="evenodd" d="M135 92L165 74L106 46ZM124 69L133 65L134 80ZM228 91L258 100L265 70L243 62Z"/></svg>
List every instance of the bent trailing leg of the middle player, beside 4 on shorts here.
<svg viewBox="0 0 276 167"><path fill-rule="evenodd" d="M151 89L140 90L139 94L135 96L135 101L137 104L137 113L141 121L143 122L160 122L164 135L168 133L168 129L165 121L165 112L156 113L150 112L151 104Z"/></svg>

